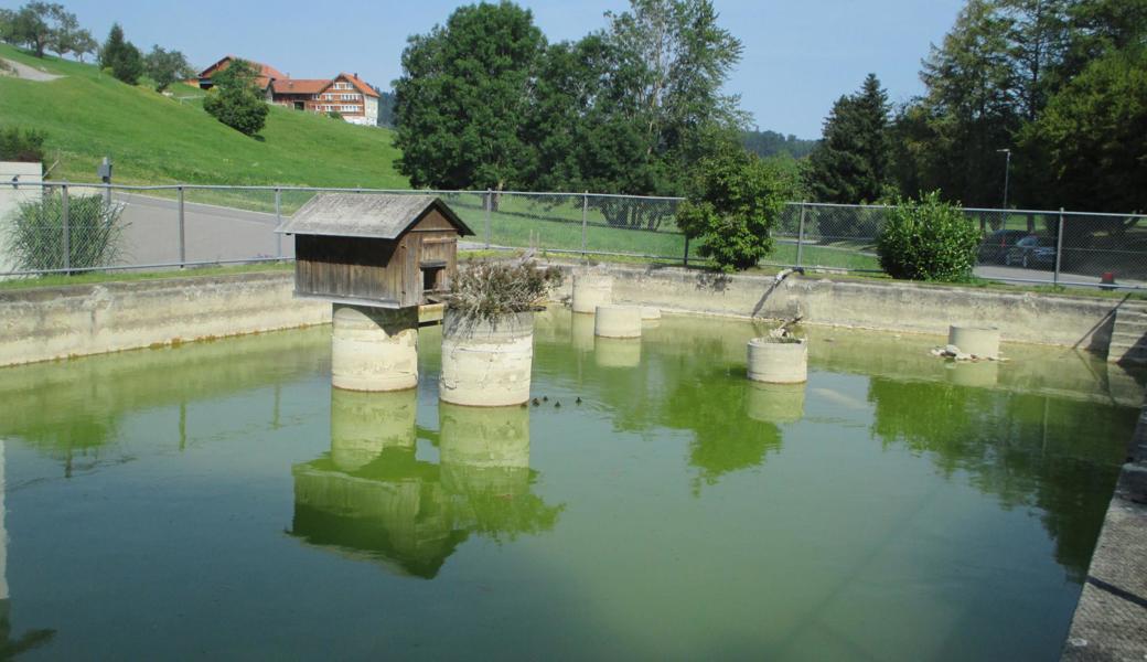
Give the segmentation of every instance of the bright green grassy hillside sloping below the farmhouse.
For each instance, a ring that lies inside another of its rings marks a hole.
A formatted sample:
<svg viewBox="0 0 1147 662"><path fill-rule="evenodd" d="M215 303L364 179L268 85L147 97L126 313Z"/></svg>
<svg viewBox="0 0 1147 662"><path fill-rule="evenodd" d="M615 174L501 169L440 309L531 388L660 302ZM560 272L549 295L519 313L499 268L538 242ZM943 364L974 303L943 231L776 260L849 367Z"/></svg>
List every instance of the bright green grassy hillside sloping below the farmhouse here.
<svg viewBox="0 0 1147 662"><path fill-rule="evenodd" d="M60 159L55 180L93 181L111 155L119 184L409 187L385 128L272 107L263 134L250 138L204 112L194 87L175 85L169 98L93 64L40 60L3 44L0 57L63 76L0 76L0 125L46 131L46 161Z"/></svg>

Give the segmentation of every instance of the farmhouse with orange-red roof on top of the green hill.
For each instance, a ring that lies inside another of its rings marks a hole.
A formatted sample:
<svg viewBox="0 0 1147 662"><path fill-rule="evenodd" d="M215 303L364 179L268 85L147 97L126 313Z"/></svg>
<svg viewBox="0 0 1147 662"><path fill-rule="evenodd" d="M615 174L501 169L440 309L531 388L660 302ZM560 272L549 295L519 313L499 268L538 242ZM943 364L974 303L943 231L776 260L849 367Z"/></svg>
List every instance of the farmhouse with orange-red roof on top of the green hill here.
<svg viewBox="0 0 1147 662"><path fill-rule="evenodd" d="M212 77L239 60L223 57L200 72L194 84L210 89ZM245 60L245 59L244 59ZM256 83L267 102L310 112L338 112L351 124L374 126L379 123L379 93L358 73L340 73L334 78L291 78L271 67L248 60L258 72Z"/></svg>

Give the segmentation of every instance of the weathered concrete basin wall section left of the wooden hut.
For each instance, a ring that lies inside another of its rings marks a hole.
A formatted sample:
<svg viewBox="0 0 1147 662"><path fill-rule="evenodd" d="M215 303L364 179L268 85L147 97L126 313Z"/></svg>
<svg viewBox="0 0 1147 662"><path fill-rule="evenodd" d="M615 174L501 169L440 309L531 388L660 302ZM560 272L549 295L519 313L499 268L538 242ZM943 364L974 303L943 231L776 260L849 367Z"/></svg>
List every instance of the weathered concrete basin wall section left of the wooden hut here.
<svg viewBox="0 0 1147 662"><path fill-rule="evenodd" d="M0 366L330 321L292 291L287 272L0 291Z"/></svg>

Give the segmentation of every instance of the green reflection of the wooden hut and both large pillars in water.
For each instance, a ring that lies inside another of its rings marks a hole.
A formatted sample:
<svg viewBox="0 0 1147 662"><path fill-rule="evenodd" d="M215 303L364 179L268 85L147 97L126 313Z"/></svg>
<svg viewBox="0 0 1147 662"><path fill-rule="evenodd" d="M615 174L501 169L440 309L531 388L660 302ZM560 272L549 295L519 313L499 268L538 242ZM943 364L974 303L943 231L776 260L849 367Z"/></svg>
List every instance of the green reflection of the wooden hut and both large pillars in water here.
<svg viewBox="0 0 1147 662"><path fill-rule="evenodd" d="M398 575L437 576L470 535L553 529L531 486L530 412L439 405L438 464L415 455L418 394L331 391L330 452L296 465L287 532Z"/></svg>

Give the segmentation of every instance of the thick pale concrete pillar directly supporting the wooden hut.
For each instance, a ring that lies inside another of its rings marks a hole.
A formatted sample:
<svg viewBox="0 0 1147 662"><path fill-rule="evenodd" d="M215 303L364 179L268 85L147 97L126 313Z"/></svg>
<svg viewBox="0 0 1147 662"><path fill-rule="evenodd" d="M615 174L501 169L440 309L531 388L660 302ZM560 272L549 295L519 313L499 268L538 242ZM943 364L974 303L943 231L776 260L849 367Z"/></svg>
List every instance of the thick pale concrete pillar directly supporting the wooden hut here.
<svg viewBox="0 0 1147 662"><path fill-rule="evenodd" d="M419 310L334 304L330 374L336 389L419 385Z"/></svg>

